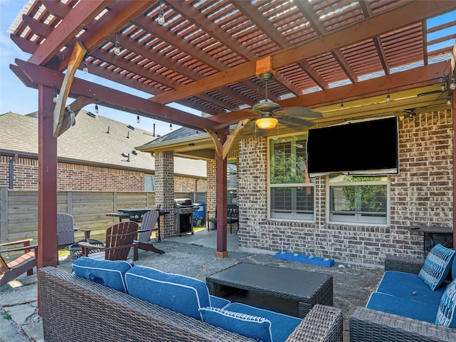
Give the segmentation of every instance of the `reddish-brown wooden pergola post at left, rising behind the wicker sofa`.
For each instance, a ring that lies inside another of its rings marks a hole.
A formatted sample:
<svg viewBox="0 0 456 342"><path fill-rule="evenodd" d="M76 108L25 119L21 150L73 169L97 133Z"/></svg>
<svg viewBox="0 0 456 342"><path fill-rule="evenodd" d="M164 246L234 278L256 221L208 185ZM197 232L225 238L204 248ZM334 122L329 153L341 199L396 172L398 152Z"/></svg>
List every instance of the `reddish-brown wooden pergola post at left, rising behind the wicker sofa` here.
<svg viewBox="0 0 456 342"><path fill-rule="evenodd" d="M38 85L38 264L57 266L57 138L53 136L53 88ZM39 277L38 277L39 283ZM38 286L38 314L41 301Z"/></svg>

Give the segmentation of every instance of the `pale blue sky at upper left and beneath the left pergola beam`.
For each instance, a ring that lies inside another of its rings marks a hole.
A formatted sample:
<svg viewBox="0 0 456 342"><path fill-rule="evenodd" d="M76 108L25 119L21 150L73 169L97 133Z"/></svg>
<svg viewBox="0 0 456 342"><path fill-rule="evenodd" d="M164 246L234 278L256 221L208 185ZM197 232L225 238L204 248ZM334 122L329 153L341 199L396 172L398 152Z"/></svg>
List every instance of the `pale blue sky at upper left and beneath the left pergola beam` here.
<svg viewBox="0 0 456 342"><path fill-rule="evenodd" d="M16 44L11 40L9 33L7 33L9 26L16 18L22 7L27 4L28 0L0 0L0 115L8 112L14 112L18 114L28 114L38 110L38 90L33 88L27 88L24 83L11 71L9 68L10 64L14 64L14 60L19 58L23 61L27 61L30 55L24 53ZM139 92L138 90L132 90L128 87L119 86L116 83L105 81L97 76L82 73L78 71L76 77L83 78L87 81L103 84L103 86L110 86L117 90L125 91L126 93L133 93L142 98L150 97L149 94ZM67 103L71 103L74 99L69 98ZM190 108L184 108L180 105L171 105L172 107L185 110L189 113L200 115L199 112ZM120 121L127 125L132 125L142 130L152 132L153 124L155 123L155 133L157 135L165 135L170 133L170 123L164 123L158 120L152 120L150 118L140 117L140 123L136 122L136 116L131 113L121 112L119 110L113 110L106 108L101 105L98 106L98 115L110 118L116 121ZM88 105L84 110L95 112L94 105ZM78 117L76 117L76 125L78 124ZM180 126L172 125L172 130L179 128Z"/></svg>

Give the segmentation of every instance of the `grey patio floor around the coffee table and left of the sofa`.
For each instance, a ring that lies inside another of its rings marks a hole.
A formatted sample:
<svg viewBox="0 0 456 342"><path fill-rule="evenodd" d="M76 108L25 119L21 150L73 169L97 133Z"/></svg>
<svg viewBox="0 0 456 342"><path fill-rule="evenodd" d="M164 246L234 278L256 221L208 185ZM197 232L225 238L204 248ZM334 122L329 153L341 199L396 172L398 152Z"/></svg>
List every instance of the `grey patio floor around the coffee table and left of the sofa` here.
<svg viewBox="0 0 456 342"><path fill-rule="evenodd" d="M383 275L383 265L339 263L332 267L276 259L274 253L239 248L237 234L227 234L229 256L215 258L216 232L206 229L195 234L172 237L157 243L165 254L140 250L135 264L152 266L205 281L206 276L241 261L301 269L333 275L333 306L343 311L344 337L349 341L348 316L355 306L365 306L368 296ZM71 259L64 257L58 268L71 271ZM0 289L0 342L43 341L41 317L37 314L36 275L25 274ZM11 317L10 319L7 319Z"/></svg>

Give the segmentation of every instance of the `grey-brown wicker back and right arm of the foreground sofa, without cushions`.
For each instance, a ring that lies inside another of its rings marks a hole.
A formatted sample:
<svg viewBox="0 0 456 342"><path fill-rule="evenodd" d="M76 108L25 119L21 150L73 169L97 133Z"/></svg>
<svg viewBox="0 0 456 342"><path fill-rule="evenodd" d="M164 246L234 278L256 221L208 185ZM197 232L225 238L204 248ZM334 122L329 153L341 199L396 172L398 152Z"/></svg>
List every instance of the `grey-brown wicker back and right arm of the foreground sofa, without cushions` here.
<svg viewBox="0 0 456 342"><path fill-rule="evenodd" d="M53 341L255 341L54 267L38 270ZM342 341L341 310L316 305L286 341Z"/></svg>

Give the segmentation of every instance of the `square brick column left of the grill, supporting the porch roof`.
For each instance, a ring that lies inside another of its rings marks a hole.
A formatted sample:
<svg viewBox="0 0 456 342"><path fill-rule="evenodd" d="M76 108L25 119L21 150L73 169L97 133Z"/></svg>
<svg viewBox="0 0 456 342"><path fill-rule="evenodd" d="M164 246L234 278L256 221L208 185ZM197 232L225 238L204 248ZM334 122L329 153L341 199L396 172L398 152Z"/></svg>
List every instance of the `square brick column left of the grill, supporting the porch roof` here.
<svg viewBox="0 0 456 342"><path fill-rule="evenodd" d="M160 217L160 234L172 237L175 234L174 154L170 151L155 152L155 204L170 212Z"/></svg>

